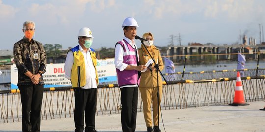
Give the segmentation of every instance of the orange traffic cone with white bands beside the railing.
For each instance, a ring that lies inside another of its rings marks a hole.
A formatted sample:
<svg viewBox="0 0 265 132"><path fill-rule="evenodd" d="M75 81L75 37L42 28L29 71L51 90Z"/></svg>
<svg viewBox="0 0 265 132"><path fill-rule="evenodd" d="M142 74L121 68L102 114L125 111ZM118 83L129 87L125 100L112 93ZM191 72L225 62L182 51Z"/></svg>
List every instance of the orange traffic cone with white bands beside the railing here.
<svg viewBox="0 0 265 132"><path fill-rule="evenodd" d="M244 93L243 93L243 87L242 87L242 81L240 77L240 72L237 73L237 82L236 82L236 88L235 88L235 95L234 95L234 102L232 104L229 104L231 106L246 106L249 105L245 103L244 99Z"/></svg>

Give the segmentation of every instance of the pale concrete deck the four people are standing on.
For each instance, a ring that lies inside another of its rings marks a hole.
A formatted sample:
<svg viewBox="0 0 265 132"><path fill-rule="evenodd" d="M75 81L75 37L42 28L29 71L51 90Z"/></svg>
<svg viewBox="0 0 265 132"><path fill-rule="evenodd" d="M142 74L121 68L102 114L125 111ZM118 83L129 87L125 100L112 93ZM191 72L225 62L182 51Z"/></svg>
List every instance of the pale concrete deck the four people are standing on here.
<svg viewBox="0 0 265 132"><path fill-rule="evenodd" d="M265 101L247 103L250 105L162 110L160 129L162 132L265 132L265 111L259 110ZM41 121L41 132L74 132L74 129L73 118ZM96 130L122 132L120 114L96 116ZM2 123L0 132L21 132L21 122ZM142 112L137 113L136 132L146 132Z"/></svg>

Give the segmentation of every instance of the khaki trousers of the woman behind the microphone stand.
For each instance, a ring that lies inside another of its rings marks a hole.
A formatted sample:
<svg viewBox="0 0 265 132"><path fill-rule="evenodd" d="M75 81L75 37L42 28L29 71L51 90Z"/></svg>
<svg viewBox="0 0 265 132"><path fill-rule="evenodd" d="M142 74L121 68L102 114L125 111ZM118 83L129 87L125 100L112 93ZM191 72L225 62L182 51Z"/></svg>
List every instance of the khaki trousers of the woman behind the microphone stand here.
<svg viewBox="0 0 265 132"><path fill-rule="evenodd" d="M143 113L146 127L152 127L152 117L151 117L151 107L153 108L153 121L154 126L158 126L158 100L157 100L157 87L140 87L141 97L143 101ZM162 98L162 86L159 86L159 115L160 112L160 104ZM160 117L160 116L159 116ZM160 120L160 118L159 118Z"/></svg>

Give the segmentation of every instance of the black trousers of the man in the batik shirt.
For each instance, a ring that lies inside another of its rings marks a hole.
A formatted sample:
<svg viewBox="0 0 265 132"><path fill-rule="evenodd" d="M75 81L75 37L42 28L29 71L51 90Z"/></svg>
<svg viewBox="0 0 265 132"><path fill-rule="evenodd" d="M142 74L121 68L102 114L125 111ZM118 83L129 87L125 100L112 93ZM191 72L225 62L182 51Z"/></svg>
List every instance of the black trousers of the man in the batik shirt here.
<svg viewBox="0 0 265 132"><path fill-rule="evenodd" d="M22 131L40 132L43 85L18 86L22 104Z"/></svg>

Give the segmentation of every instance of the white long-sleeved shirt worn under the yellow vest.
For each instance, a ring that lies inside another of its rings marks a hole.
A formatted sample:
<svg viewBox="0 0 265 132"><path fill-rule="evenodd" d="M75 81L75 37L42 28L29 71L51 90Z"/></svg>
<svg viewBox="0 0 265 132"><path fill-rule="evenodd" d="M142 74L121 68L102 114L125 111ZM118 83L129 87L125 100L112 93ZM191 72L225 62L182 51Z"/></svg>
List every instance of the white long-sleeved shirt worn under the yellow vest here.
<svg viewBox="0 0 265 132"><path fill-rule="evenodd" d="M79 45L79 49L84 55L85 76L86 76L86 85L81 88L83 89L97 88L96 71L93 65L90 52L88 51L90 50L90 48L87 50L87 52L85 52L84 49ZM74 55L73 55L73 52L70 50L67 53L65 65L64 65L64 71L65 71L64 76L67 79L71 79L71 71L72 71L73 64L74 64Z"/></svg>

